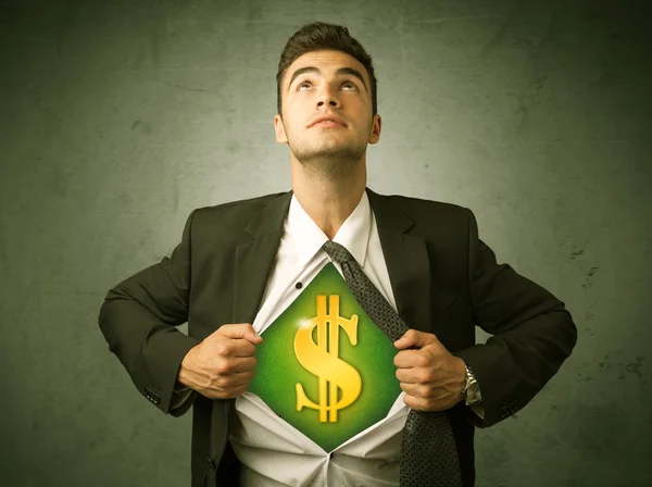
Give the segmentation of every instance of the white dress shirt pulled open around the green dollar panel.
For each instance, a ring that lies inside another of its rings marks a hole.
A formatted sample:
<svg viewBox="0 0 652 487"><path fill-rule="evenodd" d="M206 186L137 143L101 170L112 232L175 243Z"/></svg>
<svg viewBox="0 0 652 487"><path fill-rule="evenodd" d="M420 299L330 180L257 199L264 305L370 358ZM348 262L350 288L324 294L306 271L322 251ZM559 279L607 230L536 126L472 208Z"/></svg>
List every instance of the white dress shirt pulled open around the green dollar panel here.
<svg viewBox="0 0 652 487"><path fill-rule="evenodd" d="M326 240L326 234L292 195L263 304L252 323L259 334L263 334L297 299L301 289L331 262L322 250ZM396 310L366 191L333 240L349 250ZM341 266L337 262L333 264L341 274ZM297 283L302 284L301 289ZM278 417L258 396L244 392L236 399L237 414L228 425L231 447L242 463L240 485L398 486L402 430L410 411L403 402L404 395L399 395L384 420L327 452Z"/></svg>

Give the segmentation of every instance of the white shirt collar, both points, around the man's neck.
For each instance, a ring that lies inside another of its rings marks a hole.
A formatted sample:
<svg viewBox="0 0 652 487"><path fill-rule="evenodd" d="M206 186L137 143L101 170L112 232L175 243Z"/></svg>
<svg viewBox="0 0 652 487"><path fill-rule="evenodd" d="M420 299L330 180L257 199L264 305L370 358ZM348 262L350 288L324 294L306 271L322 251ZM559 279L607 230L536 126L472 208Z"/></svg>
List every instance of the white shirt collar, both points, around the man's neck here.
<svg viewBox="0 0 652 487"><path fill-rule="evenodd" d="M372 207L366 191L363 191L358 207L344 221L333 241L343 246L353 255L353 259L364 266L371 229ZM297 255L297 263L301 266L308 264L328 240L322 228L303 210L294 193L292 193L288 210L285 234L290 239Z"/></svg>

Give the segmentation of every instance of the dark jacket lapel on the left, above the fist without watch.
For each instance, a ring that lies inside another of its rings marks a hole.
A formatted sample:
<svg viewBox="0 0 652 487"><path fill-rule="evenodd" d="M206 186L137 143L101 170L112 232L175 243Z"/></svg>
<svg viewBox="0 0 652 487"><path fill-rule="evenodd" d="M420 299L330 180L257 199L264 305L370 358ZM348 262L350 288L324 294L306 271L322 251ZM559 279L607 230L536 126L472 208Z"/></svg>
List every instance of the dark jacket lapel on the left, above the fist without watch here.
<svg viewBox="0 0 652 487"><path fill-rule="evenodd" d="M236 248L233 323L253 323L290 207L292 191L272 200L247 226L251 239Z"/></svg>

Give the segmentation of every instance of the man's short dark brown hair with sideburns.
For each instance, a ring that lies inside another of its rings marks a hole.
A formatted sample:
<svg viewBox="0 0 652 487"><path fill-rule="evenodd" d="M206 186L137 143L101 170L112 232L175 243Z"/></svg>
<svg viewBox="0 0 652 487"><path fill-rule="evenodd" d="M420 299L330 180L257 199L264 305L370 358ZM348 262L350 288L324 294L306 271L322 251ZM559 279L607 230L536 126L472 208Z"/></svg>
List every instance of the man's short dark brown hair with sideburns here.
<svg viewBox="0 0 652 487"><path fill-rule="evenodd" d="M288 43L283 50L283 53L280 54L278 73L276 74L276 104L278 114L281 115L281 79L288 71L290 64L292 64L297 58L305 54L306 52L325 50L344 52L355 58L365 67L372 80L372 116L375 116L378 112L378 104L376 100L377 82L376 75L374 74L372 57L366 53L358 40L351 37L347 27L342 27L341 25L325 24L323 22L306 24L297 30L292 37L290 37Z"/></svg>

